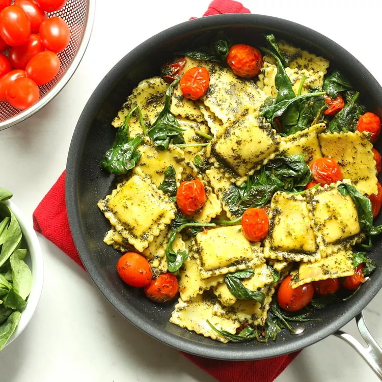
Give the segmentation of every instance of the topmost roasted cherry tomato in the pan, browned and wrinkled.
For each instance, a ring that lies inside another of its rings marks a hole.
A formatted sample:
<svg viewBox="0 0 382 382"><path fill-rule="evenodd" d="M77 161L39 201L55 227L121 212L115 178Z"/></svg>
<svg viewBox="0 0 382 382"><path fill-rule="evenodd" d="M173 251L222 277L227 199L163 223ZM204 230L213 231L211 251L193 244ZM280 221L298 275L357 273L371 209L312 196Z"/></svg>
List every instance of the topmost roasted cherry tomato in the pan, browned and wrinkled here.
<svg viewBox="0 0 382 382"><path fill-rule="evenodd" d="M228 52L227 64L236 75L252 78L260 73L263 56L253 46L236 44L232 45Z"/></svg>

